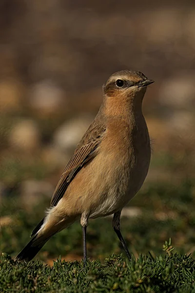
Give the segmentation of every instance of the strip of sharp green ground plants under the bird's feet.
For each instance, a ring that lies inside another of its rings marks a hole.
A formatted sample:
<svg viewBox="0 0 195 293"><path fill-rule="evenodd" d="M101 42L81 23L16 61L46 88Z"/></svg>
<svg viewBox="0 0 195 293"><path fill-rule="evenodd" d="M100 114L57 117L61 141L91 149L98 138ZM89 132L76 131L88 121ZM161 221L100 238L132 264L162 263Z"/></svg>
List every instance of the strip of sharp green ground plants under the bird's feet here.
<svg viewBox="0 0 195 293"><path fill-rule="evenodd" d="M171 254L155 259L140 255L124 262L121 255L100 261L65 262L58 259L53 267L41 261L15 263L8 254L0 260L1 292L195 292L195 259Z"/></svg>

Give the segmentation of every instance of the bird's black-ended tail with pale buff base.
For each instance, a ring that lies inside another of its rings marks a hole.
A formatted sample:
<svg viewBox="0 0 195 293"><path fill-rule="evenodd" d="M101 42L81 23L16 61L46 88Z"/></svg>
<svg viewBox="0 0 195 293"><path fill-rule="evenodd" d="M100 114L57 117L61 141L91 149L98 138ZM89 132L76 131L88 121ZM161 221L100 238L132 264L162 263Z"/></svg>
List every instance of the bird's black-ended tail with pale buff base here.
<svg viewBox="0 0 195 293"><path fill-rule="evenodd" d="M55 207L56 208L56 207ZM67 228L73 222L75 217L61 217L55 209L50 209L47 216L33 230L33 238L16 256L16 261L28 262L39 252L43 245L56 233Z"/></svg>

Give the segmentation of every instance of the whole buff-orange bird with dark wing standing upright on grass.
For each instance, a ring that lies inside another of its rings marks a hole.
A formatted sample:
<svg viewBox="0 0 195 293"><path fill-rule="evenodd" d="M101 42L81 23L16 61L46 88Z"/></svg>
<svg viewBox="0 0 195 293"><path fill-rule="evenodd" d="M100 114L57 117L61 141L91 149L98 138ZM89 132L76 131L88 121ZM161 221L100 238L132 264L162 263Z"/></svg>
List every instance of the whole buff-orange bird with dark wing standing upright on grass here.
<svg viewBox="0 0 195 293"><path fill-rule="evenodd" d="M120 215L141 188L150 165L151 143L142 101L152 83L139 71L123 70L103 85L98 114L65 167L45 217L16 261L32 260L53 235L80 220L86 266L88 221L112 214L113 229L131 261Z"/></svg>

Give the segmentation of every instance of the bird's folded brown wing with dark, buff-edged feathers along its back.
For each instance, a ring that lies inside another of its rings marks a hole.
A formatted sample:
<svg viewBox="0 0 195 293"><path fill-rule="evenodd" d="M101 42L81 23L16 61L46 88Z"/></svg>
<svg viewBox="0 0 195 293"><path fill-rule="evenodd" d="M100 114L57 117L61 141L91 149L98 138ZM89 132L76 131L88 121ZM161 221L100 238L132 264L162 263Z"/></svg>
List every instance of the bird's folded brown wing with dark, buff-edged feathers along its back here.
<svg viewBox="0 0 195 293"><path fill-rule="evenodd" d="M89 127L60 177L51 200L51 206L58 204L79 170L97 155L97 147L101 143L105 130L104 126L94 126L94 124Z"/></svg>

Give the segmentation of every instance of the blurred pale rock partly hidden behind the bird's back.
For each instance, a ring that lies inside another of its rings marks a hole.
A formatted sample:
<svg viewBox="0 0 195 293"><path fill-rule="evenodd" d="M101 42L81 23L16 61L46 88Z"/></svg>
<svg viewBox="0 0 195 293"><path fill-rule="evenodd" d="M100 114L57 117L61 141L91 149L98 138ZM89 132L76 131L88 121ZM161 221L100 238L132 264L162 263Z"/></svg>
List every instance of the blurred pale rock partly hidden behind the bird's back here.
<svg viewBox="0 0 195 293"><path fill-rule="evenodd" d="M63 151L72 152L92 121L92 117L86 116L64 123L54 134L54 145Z"/></svg>

